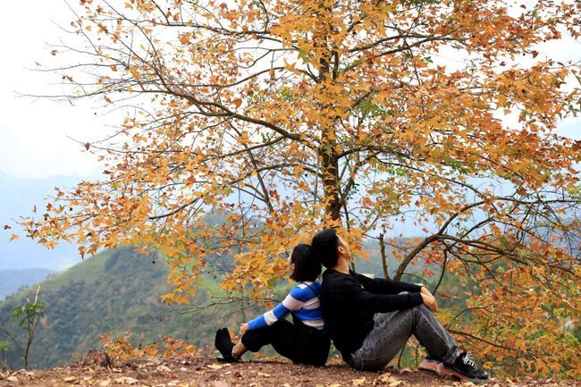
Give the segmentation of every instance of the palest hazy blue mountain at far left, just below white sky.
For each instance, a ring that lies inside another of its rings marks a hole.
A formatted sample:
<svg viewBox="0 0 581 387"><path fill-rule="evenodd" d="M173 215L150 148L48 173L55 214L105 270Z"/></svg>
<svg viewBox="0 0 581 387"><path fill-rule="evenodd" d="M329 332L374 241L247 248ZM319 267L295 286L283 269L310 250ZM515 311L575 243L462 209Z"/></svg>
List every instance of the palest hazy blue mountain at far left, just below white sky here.
<svg viewBox="0 0 581 387"><path fill-rule="evenodd" d="M55 187L74 187L80 180L78 176L17 179L0 172L0 270L45 268L60 271L80 262L75 246L61 243L48 250L26 239L24 232L14 224L14 220L19 220L21 216L32 215L34 205L41 212L46 206L43 199L53 195ZM13 228L4 230L5 224ZM9 242L13 233L20 239Z"/></svg>

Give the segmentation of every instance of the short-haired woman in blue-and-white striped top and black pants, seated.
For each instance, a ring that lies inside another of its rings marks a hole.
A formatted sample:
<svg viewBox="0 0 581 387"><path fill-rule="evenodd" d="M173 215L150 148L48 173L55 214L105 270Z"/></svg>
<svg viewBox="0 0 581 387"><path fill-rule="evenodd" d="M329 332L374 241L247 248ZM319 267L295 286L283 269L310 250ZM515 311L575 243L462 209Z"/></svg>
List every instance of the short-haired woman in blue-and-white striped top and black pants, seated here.
<svg viewBox="0 0 581 387"><path fill-rule="evenodd" d="M216 331L215 347L223 361L238 361L247 351L257 352L266 344L293 363L324 366L331 341L323 329L319 293L321 264L311 257L309 245L301 243L292 249L288 259L290 279L299 282L274 309L240 325L240 341L234 344L228 328ZM292 315L294 324L285 320Z"/></svg>

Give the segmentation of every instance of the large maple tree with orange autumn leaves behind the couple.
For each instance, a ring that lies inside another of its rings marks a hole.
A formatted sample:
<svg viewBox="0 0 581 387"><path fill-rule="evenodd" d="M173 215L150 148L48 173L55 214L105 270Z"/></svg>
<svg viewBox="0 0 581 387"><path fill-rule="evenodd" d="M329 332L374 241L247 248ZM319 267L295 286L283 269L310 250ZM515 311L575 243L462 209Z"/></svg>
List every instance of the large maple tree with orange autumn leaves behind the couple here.
<svg viewBox="0 0 581 387"><path fill-rule="evenodd" d="M515 373L578 375L561 328L579 323L581 154L556 124L578 112L579 66L535 47L578 38L581 4L509 5L81 0L74 45L53 54L83 59L52 69L70 85L55 97L126 116L85 144L108 178L57 189L22 224L81 255L157 248L172 267L164 299L188 303L216 254L235 257L226 290L256 293L322 227L355 254L377 238L385 263L385 235L412 219L425 238L398 246L393 278L422 264L436 283L478 284L472 345Z"/></svg>

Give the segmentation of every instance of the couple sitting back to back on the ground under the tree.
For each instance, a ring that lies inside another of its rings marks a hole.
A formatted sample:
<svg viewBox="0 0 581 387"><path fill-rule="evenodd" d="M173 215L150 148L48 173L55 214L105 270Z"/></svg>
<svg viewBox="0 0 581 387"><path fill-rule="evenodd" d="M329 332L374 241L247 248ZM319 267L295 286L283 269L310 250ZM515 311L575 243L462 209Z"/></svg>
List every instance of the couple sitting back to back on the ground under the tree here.
<svg viewBox="0 0 581 387"><path fill-rule="evenodd" d="M469 353L456 348L435 319L434 296L423 286L372 279L349 270L347 242L333 229L318 232L311 246L299 244L289 257L290 278L299 282L274 309L240 325L233 343L227 328L215 336L224 361L270 344L297 364L324 366L330 340L343 360L358 370L376 371L395 357L413 334L428 356L420 368L460 380L485 383L490 376ZM321 265L326 267L318 281ZM294 324L285 320L292 315ZM375 318L374 318L375 317Z"/></svg>

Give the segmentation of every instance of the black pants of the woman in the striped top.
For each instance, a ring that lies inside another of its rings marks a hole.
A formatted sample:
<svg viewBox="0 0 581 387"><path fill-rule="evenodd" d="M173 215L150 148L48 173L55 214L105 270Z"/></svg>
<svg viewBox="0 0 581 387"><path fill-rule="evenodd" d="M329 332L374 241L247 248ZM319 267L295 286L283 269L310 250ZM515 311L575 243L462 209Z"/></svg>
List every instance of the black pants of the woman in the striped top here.
<svg viewBox="0 0 581 387"><path fill-rule="evenodd" d="M331 341L326 333L305 324L291 324L279 320L265 328L246 332L242 344L251 352L257 352L267 344L293 363L324 366L329 356Z"/></svg>

